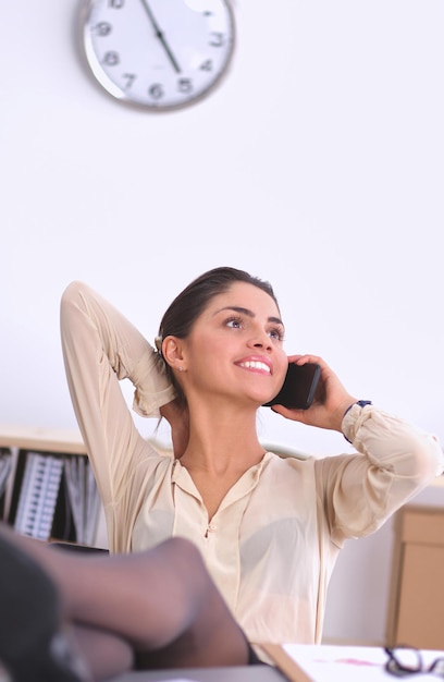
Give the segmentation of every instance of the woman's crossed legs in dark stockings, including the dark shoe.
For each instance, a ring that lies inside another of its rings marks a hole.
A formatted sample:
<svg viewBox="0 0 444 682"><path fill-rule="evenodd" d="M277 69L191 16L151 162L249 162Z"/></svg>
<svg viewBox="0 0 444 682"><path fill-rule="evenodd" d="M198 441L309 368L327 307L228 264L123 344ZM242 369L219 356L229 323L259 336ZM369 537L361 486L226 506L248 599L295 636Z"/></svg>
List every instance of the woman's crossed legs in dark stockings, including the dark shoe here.
<svg viewBox="0 0 444 682"><path fill-rule="evenodd" d="M0 678L92 682L134 668L257 662L198 550L52 548L0 524Z"/></svg>

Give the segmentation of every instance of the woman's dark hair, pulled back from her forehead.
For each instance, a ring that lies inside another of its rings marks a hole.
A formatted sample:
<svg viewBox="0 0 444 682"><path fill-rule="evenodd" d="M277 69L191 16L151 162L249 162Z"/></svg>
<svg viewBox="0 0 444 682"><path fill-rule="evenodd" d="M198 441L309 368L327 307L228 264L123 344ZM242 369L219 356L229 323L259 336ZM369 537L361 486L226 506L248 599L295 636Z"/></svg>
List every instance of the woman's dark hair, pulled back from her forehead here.
<svg viewBox="0 0 444 682"><path fill-rule="evenodd" d="M193 280L168 307L159 326L161 341L169 336L185 339L211 299L226 292L234 282L246 282L261 289L273 299L279 309L278 300L269 282L254 277L245 270L230 267L214 268ZM176 390L177 398L184 404L186 402L185 395L177 385L171 367L168 363L165 364L168 376Z"/></svg>

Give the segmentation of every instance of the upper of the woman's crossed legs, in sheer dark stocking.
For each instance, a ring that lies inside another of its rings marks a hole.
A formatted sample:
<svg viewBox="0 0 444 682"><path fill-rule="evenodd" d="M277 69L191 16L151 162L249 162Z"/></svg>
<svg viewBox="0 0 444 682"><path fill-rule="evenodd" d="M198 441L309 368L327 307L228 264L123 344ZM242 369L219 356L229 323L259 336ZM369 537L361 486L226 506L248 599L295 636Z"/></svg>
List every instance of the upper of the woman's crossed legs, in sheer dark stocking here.
<svg viewBox="0 0 444 682"><path fill-rule="evenodd" d="M74 556L3 533L51 576L66 619L119 637L123 648L131 644L144 665L247 662L244 633L187 540L133 555Z"/></svg>

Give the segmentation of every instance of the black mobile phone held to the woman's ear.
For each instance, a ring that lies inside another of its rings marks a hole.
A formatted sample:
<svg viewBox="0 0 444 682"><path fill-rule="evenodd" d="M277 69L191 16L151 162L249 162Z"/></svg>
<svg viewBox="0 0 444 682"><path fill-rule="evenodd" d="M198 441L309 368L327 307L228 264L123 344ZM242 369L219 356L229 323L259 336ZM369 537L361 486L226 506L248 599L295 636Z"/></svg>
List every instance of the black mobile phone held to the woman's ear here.
<svg viewBox="0 0 444 682"><path fill-rule="evenodd" d="M314 399L321 367L317 363L288 364L282 389L264 407L284 405L291 410L308 410Z"/></svg>

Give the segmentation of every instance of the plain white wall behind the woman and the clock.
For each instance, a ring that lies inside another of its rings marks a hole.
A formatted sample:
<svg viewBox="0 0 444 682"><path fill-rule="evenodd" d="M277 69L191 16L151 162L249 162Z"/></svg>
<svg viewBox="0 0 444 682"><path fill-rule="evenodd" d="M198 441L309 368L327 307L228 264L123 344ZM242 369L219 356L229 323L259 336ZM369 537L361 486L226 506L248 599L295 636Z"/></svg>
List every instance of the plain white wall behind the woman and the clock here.
<svg viewBox="0 0 444 682"><path fill-rule="evenodd" d="M229 77L160 115L89 80L81 5L0 7L0 422L75 426L58 328L70 280L152 339L193 277L232 265L273 283L288 352L323 355L351 392L444 440L442 1L233 0ZM260 429L347 451L270 413ZM326 634L356 621L359 638L368 612L379 638L378 537L356 544L363 576L344 550Z"/></svg>

